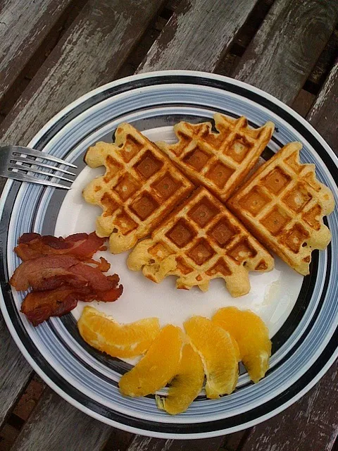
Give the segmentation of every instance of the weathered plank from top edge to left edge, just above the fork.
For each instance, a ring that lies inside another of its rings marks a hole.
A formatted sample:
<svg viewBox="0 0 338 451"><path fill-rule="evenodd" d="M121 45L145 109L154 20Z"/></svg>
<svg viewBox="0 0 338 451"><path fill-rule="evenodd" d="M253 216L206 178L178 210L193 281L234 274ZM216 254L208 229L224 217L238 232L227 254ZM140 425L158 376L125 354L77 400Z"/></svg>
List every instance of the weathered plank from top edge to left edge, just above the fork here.
<svg viewBox="0 0 338 451"><path fill-rule="evenodd" d="M27 144L65 105L113 80L163 0L89 0L1 123L1 142Z"/></svg>

